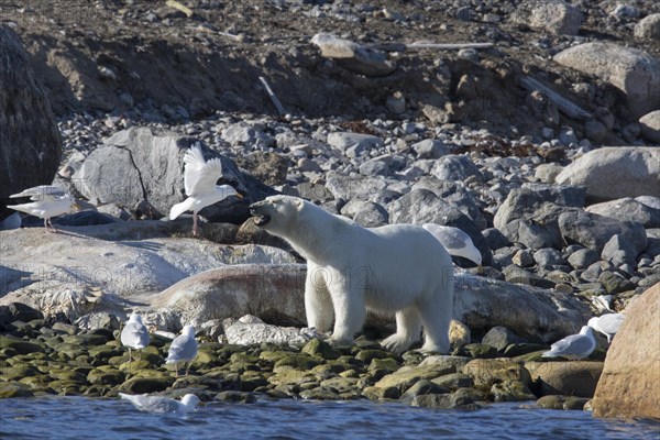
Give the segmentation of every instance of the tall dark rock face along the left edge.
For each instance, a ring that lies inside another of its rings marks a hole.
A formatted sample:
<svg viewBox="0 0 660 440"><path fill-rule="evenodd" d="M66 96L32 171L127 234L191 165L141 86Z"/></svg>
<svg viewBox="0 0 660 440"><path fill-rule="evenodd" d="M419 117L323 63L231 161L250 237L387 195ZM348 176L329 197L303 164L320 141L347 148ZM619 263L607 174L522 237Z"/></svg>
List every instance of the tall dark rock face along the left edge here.
<svg viewBox="0 0 660 440"><path fill-rule="evenodd" d="M51 184L62 139L51 105L18 35L0 26L0 220L10 195ZM15 200L14 200L15 201Z"/></svg>

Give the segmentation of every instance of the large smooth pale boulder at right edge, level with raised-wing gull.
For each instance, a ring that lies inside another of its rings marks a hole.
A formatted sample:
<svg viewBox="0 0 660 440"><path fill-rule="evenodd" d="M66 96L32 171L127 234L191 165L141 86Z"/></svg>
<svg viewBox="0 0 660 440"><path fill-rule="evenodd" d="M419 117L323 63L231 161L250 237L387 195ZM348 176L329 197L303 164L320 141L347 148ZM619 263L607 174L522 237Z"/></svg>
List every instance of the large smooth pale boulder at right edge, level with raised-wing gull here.
<svg viewBox="0 0 660 440"><path fill-rule="evenodd" d="M556 182L586 187L587 202L660 197L660 148L614 146L594 150L566 166Z"/></svg>

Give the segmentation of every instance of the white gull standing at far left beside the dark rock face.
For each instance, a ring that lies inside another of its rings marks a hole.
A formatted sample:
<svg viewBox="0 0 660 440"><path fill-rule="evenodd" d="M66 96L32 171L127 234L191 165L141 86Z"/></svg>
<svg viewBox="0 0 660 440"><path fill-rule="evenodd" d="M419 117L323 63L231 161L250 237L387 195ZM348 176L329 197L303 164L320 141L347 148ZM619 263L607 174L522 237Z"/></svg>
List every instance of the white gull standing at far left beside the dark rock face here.
<svg viewBox="0 0 660 440"><path fill-rule="evenodd" d="M48 226L51 226L53 232L57 232L51 222L52 217L57 217L78 209L76 199L58 186L40 185L9 197L12 199L30 197L30 200L32 200L30 204L8 205L7 207L44 219L46 232L50 232Z"/></svg>

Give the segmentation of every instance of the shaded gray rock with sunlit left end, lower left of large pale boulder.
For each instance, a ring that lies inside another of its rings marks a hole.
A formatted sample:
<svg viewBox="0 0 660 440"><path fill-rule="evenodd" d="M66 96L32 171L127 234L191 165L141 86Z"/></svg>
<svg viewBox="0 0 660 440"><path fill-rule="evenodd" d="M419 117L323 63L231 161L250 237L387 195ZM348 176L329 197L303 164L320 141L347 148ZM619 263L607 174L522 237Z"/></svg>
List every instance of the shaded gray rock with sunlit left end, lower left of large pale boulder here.
<svg viewBox="0 0 660 440"><path fill-rule="evenodd" d="M513 220L531 219L546 204L581 208L584 198L585 190L579 186L524 184L509 193L497 209L493 224L502 231Z"/></svg>

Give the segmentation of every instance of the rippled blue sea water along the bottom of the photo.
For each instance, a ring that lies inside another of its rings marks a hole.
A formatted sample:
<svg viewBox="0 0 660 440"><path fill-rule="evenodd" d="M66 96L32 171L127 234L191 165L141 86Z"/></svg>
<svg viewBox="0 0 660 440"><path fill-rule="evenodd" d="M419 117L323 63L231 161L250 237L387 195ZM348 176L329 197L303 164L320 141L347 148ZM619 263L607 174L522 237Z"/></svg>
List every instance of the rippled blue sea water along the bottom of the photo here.
<svg viewBox="0 0 660 440"><path fill-rule="evenodd" d="M436 410L367 400L208 403L187 415L138 411L110 398L0 400L1 439L660 439L651 420L526 404Z"/></svg>

